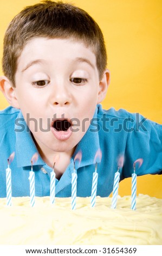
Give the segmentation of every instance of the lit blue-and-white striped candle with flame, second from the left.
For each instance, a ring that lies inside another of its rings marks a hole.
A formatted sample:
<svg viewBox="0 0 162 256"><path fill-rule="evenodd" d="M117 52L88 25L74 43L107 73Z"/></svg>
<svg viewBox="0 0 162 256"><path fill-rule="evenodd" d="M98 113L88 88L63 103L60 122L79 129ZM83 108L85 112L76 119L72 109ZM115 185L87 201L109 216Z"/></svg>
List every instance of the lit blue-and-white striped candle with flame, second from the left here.
<svg viewBox="0 0 162 256"><path fill-rule="evenodd" d="M31 159L31 171L29 172L31 207L35 205L35 173L33 172L33 164L37 161L37 159L38 159L38 154L35 153Z"/></svg>

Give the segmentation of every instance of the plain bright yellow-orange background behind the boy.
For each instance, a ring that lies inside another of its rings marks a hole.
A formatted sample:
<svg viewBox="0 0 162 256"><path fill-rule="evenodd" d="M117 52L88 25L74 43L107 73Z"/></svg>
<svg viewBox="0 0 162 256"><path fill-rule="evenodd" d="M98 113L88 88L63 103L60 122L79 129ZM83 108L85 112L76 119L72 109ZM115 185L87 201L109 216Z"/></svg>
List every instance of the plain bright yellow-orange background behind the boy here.
<svg viewBox="0 0 162 256"><path fill-rule="evenodd" d="M27 5L40 1L0 3L0 58L3 36L11 19ZM125 108L162 124L161 0L74 0L98 22L105 36L111 84L104 108ZM2 67L0 67L2 75ZM8 103L0 93L0 109ZM162 198L162 175L138 177L137 192ZM119 194L131 194L131 178L120 183Z"/></svg>

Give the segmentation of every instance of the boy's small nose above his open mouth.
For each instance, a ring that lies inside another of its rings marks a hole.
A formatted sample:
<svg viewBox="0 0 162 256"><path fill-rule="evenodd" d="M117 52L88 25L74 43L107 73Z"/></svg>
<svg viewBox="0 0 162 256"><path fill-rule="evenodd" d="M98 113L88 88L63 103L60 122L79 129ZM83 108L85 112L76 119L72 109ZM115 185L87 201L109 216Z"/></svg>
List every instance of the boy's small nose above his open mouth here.
<svg viewBox="0 0 162 256"><path fill-rule="evenodd" d="M58 83L54 89L53 105L69 105L72 102L72 94L70 93L69 84Z"/></svg>

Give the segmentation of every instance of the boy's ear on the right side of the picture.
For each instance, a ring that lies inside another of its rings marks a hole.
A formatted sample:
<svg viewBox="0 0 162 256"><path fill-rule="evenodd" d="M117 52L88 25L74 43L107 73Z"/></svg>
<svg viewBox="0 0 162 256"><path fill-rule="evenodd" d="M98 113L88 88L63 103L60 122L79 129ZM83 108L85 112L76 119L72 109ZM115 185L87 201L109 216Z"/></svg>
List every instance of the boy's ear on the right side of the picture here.
<svg viewBox="0 0 162 256"><path fill-rule="evenodd" d="M107 89L110 83L110 72L106 69L103 73L102 80L99 83L99 94L98 94L98 104L105 99Z"/></svg>

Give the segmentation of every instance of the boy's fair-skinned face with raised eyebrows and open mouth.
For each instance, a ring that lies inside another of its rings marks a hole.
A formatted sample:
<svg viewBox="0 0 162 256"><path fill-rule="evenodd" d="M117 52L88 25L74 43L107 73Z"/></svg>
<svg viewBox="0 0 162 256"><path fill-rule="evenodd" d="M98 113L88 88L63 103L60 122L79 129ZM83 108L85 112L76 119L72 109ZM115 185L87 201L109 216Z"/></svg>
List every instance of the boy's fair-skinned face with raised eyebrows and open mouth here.
<svg viewBox="0 0 162 256"><path fill-rule="evenodd" d="M105 81L99 81L95 54L81 42L47 38L28 42L15 74L16 107L41 151L74 151L96 104L103 100ZM57 131L60 124L63 130Z"/></svg>

